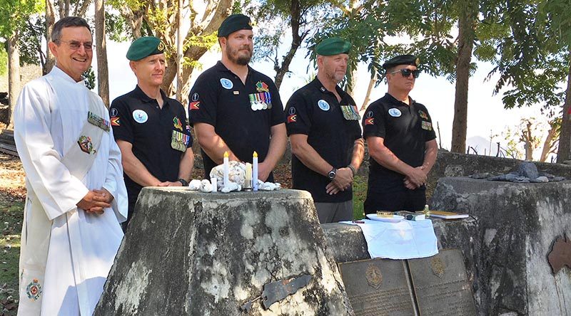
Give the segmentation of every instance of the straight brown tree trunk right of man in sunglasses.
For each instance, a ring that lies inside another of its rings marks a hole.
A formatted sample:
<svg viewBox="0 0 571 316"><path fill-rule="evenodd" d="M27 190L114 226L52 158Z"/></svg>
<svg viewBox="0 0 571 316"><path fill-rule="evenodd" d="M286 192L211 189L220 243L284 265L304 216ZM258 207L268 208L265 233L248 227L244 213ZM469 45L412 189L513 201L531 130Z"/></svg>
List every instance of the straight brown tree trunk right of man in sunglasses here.
<svg viewBox="0 0 571 316"><path fill-rule="evenodd" d="M462 3L465 2L465 3ZM454 100L454 121L452 125L452 152L463 153L466 149L468 129L468 80L470 61L475 38L475 21L479 1L460 1L458 19L458 59L456 60L456 93Z"/></svg>

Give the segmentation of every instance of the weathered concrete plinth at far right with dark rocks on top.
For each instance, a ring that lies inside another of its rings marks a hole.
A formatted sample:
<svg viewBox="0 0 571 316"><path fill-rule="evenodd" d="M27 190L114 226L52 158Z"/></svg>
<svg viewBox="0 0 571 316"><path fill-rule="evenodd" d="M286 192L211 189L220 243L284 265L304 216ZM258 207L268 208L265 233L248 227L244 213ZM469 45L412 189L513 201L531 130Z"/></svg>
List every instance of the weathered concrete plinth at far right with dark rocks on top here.
<svg viewBox="0 0 571 316"><path fill-rule="evenodd" d="M555 239L571 236L571 181L443 178L431 206L478 219L480 315L571 315L571 271L554 275L547 262Z"/></svg>

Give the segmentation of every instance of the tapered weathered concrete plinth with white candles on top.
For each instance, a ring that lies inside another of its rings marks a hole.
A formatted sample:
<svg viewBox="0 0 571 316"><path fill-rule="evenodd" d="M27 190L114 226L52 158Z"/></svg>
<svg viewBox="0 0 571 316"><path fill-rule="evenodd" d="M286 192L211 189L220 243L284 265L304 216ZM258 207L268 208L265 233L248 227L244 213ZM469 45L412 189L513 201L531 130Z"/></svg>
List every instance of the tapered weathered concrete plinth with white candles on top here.
<svg viewBox="0 0 571 316"><path fill-rule="evenodd" d="M353 314L308 192L143 189L136 212L94 315ZM264 285L303 275L263 308Z"/></svg>

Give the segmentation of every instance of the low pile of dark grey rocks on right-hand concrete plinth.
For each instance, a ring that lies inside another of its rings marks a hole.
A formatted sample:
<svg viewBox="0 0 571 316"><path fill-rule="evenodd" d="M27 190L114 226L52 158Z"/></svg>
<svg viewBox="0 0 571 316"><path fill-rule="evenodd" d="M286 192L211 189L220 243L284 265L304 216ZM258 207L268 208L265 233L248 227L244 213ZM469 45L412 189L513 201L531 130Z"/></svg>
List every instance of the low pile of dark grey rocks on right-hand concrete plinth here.
<svg viewBox="0 0 571 316"><path fill-rule="evenodd" d="M472 174L473 179L487 179L489 181L507 181L515 183L546 183L565 180L565 177L557 177L546 172L538 172L533 162L522 162L515 172L509 174L494 175L490 172Z"/></svg>

